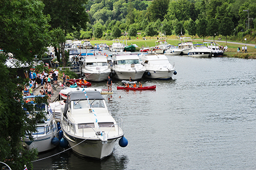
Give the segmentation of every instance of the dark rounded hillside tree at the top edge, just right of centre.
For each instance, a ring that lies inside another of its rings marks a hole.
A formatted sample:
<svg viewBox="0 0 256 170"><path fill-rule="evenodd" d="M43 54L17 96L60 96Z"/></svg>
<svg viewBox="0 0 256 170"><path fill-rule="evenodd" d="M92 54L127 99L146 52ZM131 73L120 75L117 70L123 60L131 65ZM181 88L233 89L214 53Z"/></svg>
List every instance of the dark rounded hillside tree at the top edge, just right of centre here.
<svg viewBox="0 0 256 170"><path fill-rule="evenodd" d="M164 16L167 14L170 0L154 0L148 7L147 17L151 22L155 22L160 19L164 20Z"/></svg>

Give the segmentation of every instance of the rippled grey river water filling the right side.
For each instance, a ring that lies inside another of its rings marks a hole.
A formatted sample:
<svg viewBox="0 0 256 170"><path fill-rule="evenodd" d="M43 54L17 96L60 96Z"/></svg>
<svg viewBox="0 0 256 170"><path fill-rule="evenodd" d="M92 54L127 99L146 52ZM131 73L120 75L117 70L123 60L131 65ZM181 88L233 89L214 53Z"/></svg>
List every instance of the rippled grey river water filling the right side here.
<svg viewBox="0 0 256 170"><path fill-rule="evenodd" d="M123 119L127 147L117 142L102 161L69 150L34 169L255 169L256 60L167 57L173 80L141 80L154 91L117 91L121 82L113 80L108 108Z"/></svg>

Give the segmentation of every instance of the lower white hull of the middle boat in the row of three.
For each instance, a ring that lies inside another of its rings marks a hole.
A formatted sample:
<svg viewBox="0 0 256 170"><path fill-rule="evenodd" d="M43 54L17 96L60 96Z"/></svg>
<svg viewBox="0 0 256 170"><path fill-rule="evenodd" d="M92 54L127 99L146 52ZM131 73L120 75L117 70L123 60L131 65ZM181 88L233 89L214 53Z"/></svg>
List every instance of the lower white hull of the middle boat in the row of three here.
<svg viewBox="0 0 256 170"><path fill-rule="evenodd" d="M130 77L133 80L139 80L142 78L143 74L144 74L144 70L143 71L115 71L115 75L114 78L115 79L119 79L119 80L129 80Z"/></svg>

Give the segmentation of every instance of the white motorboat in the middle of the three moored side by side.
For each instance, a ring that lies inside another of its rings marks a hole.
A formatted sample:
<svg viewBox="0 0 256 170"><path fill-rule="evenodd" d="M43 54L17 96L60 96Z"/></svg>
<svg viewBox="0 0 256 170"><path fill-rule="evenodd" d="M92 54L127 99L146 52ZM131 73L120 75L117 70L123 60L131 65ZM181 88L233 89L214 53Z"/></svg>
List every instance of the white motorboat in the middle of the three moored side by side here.
<svg viewBox="0 0 256 170"><path fill-rule="evenodd" d="M113 53L113 66L111 73L115 79L139 80L142 78L145 68L139 62L138 54L131 52Z"/></svg>

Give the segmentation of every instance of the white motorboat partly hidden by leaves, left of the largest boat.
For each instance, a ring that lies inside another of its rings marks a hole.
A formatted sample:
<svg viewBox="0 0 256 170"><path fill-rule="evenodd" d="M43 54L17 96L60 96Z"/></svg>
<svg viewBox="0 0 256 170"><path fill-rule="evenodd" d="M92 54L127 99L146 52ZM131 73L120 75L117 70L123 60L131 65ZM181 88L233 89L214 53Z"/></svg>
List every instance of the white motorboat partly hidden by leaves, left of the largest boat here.
<svg viewBox="0 0 256 170"><path fill-rule="evenodd" d="M43 96L26 96L24 101L33 102L35 97ZM44 152L55 148L59 145L59 139L57 139L57 124L53 117L51 107L46 104L34 104L35 111L45 112L46 120L41 120L36 124L36 132L32 133L33 140L31 141L28 137L22 139L26 147L30 150L37 148L38 152ZM26 108L23 108L26 111Z"/></svg>

